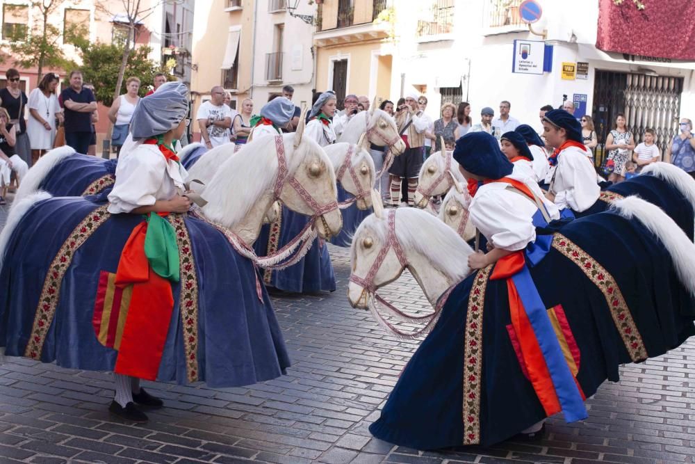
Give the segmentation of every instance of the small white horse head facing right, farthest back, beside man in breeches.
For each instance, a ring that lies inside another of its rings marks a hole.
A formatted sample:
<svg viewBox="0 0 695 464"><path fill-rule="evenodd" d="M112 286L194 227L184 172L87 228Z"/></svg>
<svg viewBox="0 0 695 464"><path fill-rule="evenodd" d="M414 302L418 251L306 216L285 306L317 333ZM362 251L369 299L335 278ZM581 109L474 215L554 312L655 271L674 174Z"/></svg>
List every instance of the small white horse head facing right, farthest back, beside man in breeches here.
<svg viewBox="0 0 695 464"><path fill-rule="evenodd" d="M398 127L389 113L372 106L369 111L362 111L352 116L350 122L343 129L338 142L357 143L362 134L362 146L369 149L373 143L379 147L389 146L393 154L401 154L405 151L405 142L398 134Z"/></svg>

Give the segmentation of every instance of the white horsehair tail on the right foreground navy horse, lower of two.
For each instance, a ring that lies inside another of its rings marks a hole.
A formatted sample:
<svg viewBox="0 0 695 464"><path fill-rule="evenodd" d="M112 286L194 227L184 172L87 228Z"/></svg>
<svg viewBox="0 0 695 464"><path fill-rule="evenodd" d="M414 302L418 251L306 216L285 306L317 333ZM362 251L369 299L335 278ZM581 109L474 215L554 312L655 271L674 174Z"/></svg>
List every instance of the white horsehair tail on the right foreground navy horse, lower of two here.
<svg viewBox="0 0 695 464"><path fill-rule="evenodd" d="M664 244L680 282L695 296L695 244L664 211L636 195L615 200L612 205L624 218L637 218L639 222Z"/></svg>

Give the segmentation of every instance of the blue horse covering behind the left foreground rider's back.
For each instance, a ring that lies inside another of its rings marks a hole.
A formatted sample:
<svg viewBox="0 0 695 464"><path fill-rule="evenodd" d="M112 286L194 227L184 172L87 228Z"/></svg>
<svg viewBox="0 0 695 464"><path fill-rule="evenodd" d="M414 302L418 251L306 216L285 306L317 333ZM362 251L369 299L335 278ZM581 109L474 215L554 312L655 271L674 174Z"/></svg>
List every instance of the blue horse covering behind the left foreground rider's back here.
<svg viewBox="0 0 695 464"><path fill-rule="evenodd" d="M113 178L111 183L104 180L106 184L97 185L100 179L108 175L115 175L117 159L103 159L91 157L88 154L74 153L56 164L51 172L42 180L39 189L47 191L56 197L79 197L83 194L90 194L87 190L90 186L95 190L111 191L113 188Z"/></svg>

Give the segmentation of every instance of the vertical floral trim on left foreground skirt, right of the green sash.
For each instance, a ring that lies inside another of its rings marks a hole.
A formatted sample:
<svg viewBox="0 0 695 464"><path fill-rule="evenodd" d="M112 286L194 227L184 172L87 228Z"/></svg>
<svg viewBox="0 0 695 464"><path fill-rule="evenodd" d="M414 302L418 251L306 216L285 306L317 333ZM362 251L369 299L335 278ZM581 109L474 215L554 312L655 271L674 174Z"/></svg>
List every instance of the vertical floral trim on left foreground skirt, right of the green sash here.
<svg viewBox="0 0 695 464"><path fill-rule="evenodd" d="M186 354L186 375L189 382L198 380L198 278L195 273L193 247L181 214L170 214L167 219L174 226L179 243L181 263L181 296L179 311L183 325L183 352Z"/></svg>

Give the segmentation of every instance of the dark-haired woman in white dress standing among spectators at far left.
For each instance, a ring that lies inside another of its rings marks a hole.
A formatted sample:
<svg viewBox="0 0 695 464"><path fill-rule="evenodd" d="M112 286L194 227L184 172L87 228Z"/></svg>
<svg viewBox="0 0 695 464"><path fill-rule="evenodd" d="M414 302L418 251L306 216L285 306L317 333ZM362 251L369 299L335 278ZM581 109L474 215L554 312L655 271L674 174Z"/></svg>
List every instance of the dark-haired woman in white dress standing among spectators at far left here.
<svg viewBox="0 0 695 464"><path fill-rule="evenodd" d="M26 133L31 144L32 164L53 148L56 138L56 118L63 119L63 112L60 110L56 95L58 79L58 74L53 72L44 74L39 86L31 90L29 94L26 104L29 109Z"/></svg>

